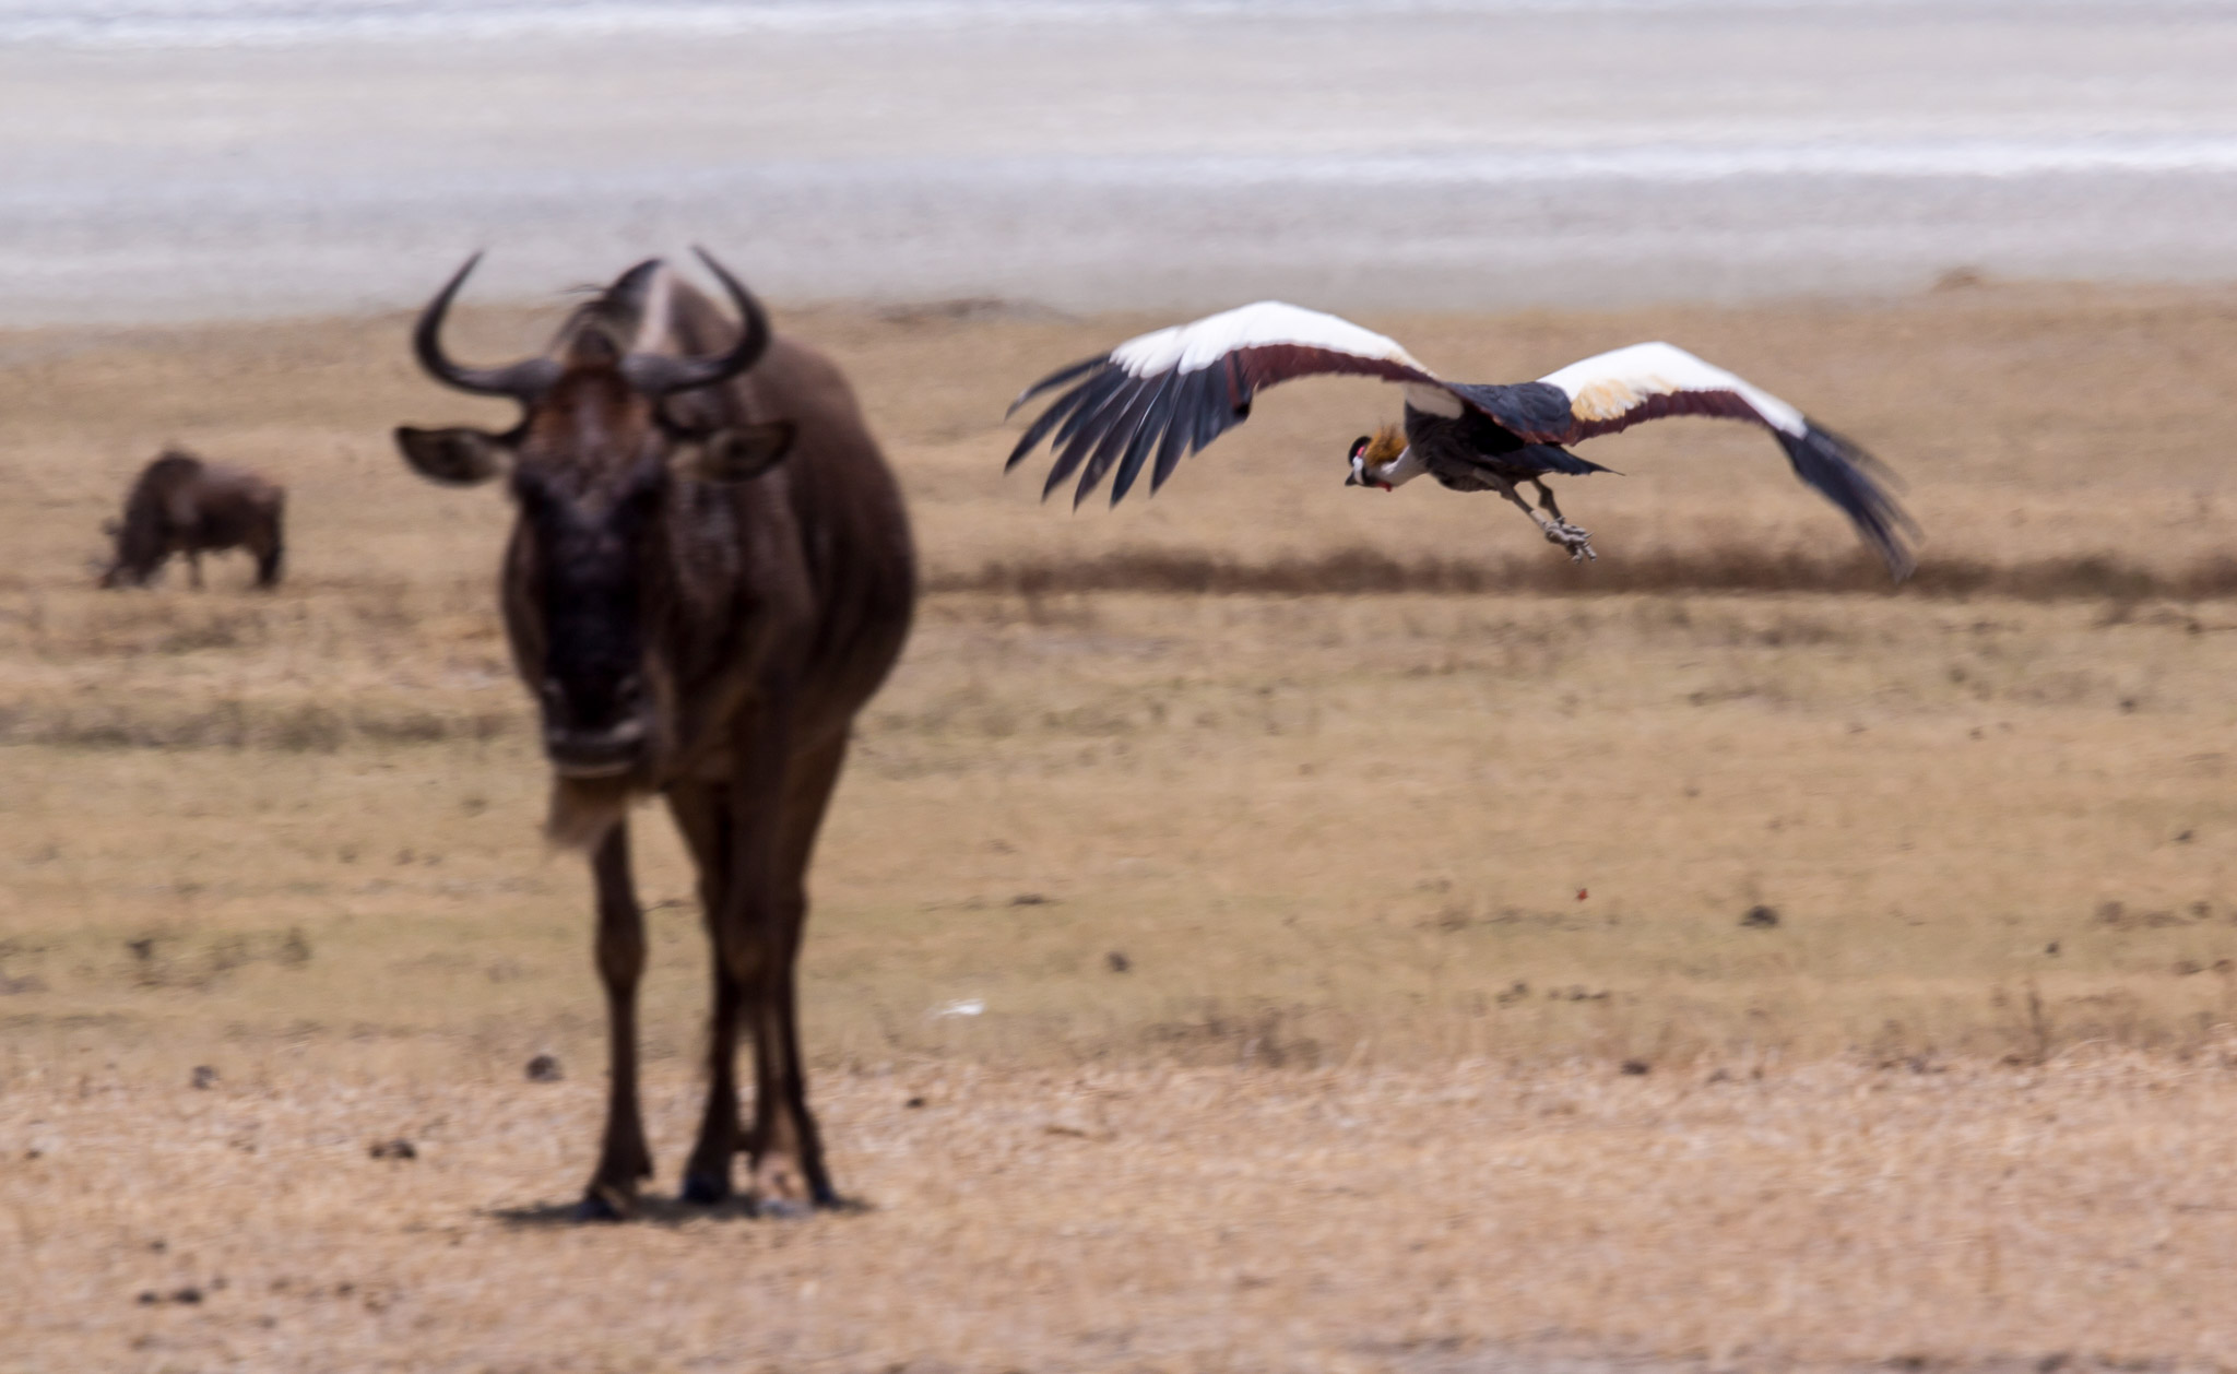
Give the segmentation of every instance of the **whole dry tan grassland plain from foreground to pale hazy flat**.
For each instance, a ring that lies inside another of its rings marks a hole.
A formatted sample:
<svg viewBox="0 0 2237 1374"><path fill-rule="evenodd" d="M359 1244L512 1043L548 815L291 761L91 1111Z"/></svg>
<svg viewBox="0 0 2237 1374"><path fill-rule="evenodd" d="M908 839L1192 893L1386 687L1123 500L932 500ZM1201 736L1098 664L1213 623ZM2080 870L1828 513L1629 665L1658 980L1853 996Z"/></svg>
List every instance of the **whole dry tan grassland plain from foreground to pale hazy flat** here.
<svg viewBox="0 0 2237 1374"><path fill-rule="evenodd" d="M2237 295L1376 320L1803 401L1913 479L1899 595L1832 591L1848 533L1736 427L1595 445L1633 477L1566 488L1582 573L1347 492L1371 387L1067 519L1000 407L1139 322L792 324L942 589L805 960L870 1208L801 1226L555 1224L586 882L535 837L503 506L383 439L501 412L394 318L0 336L0 1370L2237 1365ZM163 441L289 483L286 586L89 591ZM1769 577L1816 591L1725 591ZM1302 595L1391 582L1441 591ZM640 835L667 1184L702 942Z"/></svg>

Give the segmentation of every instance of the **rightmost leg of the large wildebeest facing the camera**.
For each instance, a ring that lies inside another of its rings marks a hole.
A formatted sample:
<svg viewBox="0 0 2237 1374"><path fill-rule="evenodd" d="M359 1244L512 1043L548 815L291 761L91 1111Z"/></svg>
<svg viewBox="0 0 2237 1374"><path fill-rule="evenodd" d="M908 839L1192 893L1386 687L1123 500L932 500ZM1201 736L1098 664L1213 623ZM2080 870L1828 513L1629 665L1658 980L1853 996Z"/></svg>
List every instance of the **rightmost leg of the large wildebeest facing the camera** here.
<svg viewBox="0 0 2237 1374"><path fill-rule="evenodd" d="M832 788L846 763L846 736L792 765L785 785L785 826L776 855L776 902L767 931L763 978L747 989L754 1032L754 1202L774 1213L839 1206L823 1141L808 1110L808 1072L801 1065L801 1020L794 967L808 924L808 862Z"/></svg>

